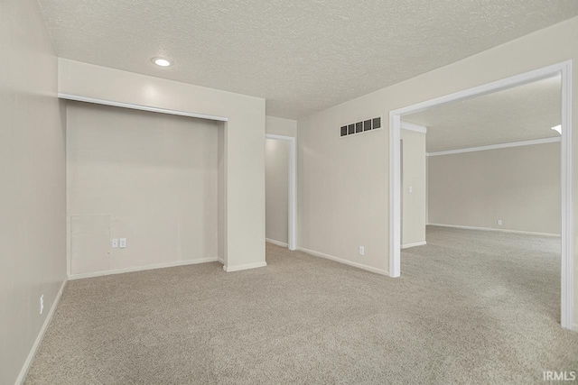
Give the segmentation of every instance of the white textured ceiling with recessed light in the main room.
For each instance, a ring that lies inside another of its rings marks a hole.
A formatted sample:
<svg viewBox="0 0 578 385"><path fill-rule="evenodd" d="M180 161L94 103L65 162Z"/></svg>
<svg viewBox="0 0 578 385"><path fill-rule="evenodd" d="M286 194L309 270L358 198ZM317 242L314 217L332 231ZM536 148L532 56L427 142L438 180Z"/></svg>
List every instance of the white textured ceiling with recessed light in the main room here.
<svg viewBox="0 0 578 385"><path fill-rule="evenodd" d="M292 119L578 15L577 0L39 3L63 58L265 97Z"/></svg>

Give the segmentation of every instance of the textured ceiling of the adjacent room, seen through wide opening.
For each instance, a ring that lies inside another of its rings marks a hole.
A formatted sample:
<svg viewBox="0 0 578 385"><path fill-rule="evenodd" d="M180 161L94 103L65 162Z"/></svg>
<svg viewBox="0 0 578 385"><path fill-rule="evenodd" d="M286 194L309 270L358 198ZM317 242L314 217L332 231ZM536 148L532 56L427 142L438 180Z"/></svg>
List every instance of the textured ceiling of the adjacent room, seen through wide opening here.
<svg viewBox="0 0 578 385"><path fill-rule="evenodd" d="M474 97L403 120L427 127L426 151L447 151L560 136L560 77Z"/></svg>

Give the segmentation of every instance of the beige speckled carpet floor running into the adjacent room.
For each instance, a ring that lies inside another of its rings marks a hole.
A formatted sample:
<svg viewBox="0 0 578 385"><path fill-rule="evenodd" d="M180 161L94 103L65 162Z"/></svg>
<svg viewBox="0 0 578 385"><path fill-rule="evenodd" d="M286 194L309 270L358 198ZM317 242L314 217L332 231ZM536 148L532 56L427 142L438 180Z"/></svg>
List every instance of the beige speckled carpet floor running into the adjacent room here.
<svg viewBox="0 0 578 385"><path fill-rule="evenodd" d="M529 383L578 370L559 239L428 227L390 279L267 244L70 281L27 384Z"/></svg>

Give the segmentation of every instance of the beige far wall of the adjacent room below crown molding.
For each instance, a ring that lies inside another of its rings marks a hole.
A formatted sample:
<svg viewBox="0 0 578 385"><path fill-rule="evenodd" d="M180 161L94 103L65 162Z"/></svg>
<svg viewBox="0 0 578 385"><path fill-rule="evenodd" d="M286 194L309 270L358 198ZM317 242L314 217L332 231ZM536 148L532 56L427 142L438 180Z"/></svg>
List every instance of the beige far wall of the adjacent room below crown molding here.
<svg viewBox="0 0 578 385"><path fill-rule="evenodd" d="M559 142L428 161L430 223L560 234Z"/></svg>

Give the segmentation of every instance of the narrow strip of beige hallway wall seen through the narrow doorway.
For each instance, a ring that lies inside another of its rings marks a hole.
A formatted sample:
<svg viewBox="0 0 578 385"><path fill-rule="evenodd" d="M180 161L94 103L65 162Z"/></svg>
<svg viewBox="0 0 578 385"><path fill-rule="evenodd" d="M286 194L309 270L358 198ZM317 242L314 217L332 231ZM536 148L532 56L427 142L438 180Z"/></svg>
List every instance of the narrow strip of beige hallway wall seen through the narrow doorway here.
<svg viewBox="0 0 578 385"><path fill-rule="evenodd" d="M265 141L266 238L288 243L289 143Z"/></svg>

